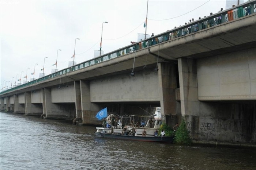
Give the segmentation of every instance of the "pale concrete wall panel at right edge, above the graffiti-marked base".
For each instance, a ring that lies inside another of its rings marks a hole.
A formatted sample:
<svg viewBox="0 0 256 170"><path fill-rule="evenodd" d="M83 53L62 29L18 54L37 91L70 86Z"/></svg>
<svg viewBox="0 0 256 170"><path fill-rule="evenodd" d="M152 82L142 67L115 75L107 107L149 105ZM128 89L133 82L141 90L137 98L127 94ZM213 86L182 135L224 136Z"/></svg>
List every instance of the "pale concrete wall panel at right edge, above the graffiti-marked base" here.
<svg viewBox="0 0 256 170"><path fill-rule="evenodd" d="M256 48L197 59L198 99L256 100Z"/></svg>

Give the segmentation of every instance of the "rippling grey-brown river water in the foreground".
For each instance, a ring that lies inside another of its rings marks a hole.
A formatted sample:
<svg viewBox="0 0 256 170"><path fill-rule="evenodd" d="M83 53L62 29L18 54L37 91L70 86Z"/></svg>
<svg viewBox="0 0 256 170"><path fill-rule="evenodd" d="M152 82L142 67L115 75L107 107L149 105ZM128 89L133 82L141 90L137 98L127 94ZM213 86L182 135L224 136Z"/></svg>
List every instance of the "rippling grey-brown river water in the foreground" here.
<svg viewBox="0 0 256 170"><path fill-rule="evenodd" d="M1 170L255 170L256 149L96 138L95 127L0 112Z"/></svg>

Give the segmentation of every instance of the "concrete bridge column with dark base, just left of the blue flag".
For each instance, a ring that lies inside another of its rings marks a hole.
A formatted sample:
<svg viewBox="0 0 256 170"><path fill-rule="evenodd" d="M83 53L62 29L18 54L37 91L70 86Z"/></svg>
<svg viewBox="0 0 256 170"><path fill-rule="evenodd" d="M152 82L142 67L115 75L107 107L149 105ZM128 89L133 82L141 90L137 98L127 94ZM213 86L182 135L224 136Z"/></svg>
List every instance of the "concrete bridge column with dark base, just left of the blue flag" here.
<svg viewBox="0 0 256 170"><path fill-rule="evenodd" d="M81 108L83 124L97 124L99 121L95 118L97 112L101 109L99 105L91 103L90 83L80 80Z"/></svg>

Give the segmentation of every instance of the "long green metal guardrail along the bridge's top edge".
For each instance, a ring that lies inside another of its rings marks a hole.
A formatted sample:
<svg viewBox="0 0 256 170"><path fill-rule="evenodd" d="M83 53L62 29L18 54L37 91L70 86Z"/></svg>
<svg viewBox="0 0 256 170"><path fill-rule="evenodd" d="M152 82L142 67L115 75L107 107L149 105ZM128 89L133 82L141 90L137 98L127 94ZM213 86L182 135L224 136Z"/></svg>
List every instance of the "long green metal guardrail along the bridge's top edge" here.
<svg viewBox="0 0 256 170"><path fill-rule="evenodd" d="M237 5L235 7L230 8L230 9L226 9L225 11L215 13L213 15L210 15L210 16L204 17L202 19L196 20L194 22L191 22L191 23L185 24L183 26L180 26L178 28L174 28L170 31L163 32L162 34L151 36L150 38L144 39L144 40L142 40L140 42L137 42L137 43L133 43L132 45L123 47L123 48L118 49L116 51L112 51L108 54L104 54L104 55L99 56L97 58L85 61L83 63L79 63L77 65L74 65L74 66L71 66L71 67L68 67L68 68L65 68L65 69L60 70L58 72L49 74L48 76L38 78L36 80L27 82L26 84L22 84L22 85L14 87L14 88L5 90L5 91L1 92L0 95L3 94L3 93L6 93L6 92L12 91L12 90L16 90L16 89L19 89L19 88L22 88L22 87L25 87L25 86L35 84L35 83L40 82L40 81L45 81L45 80L48 80L50 78L60 76L60 75L65 74L65 73L69 73L69 72L73 72L75 70L79 70L79 69L82 69L84 67L88 67L88 66L91 66L91 65L94 65L94 64L97 64L97 63L108 61L109 59L112 59L112 58L121 57L125 54L132 53L136 50L145 49L145 48L148 48L150 46L154 46L154 45L157 45L159 43L162 43L162 42L165 42L165 41L168 41L168 40L176 39L176 38L179 38L179 37L191 34L191 33L195 33L197 31L200 31L200 30L203 30L203 29L206 29L206 28L214 27L214 26L217 26L219 24L229 22L229 21L235 20L237 18L244 17L246 15L251 15L252 13L256 12L255 7L256 7L256 0L248 1L248 2L243 3L241 5Z"/></svg>

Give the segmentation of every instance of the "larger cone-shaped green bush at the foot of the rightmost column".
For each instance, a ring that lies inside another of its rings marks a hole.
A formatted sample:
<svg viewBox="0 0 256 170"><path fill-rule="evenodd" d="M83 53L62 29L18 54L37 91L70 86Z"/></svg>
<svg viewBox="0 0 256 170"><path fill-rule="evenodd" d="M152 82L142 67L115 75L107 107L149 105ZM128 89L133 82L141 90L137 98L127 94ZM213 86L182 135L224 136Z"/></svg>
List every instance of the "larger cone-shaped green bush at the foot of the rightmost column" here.
<svg viewBox="0 0 256 170"><path fill-rule="evenodd" d="M179 128L175 132L174 143L184 145L190 145L192 143L184 118L182 119Z"/></svg>

